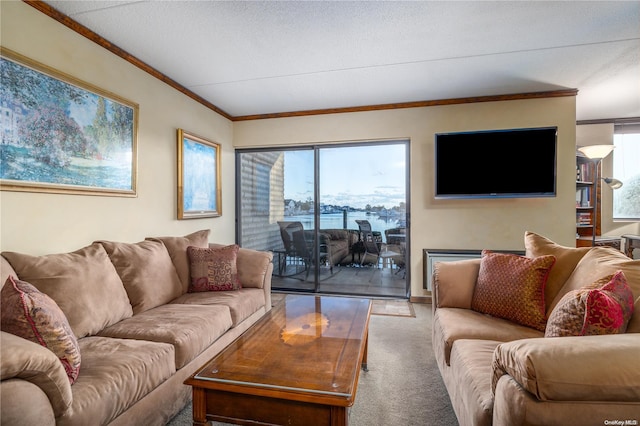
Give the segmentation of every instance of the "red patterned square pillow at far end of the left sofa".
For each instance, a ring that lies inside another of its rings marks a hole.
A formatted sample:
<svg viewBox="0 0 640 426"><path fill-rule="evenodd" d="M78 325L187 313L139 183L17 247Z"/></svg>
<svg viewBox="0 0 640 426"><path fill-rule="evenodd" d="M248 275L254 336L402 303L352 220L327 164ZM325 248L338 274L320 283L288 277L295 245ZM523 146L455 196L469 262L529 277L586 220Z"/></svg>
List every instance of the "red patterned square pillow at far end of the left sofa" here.
<svg viewBox="0 0 640 426"><path fill-rule="evenodd" d="M221 248L187 247L191 264L189 292L237 290L238 280L237 244Z"/></svg>

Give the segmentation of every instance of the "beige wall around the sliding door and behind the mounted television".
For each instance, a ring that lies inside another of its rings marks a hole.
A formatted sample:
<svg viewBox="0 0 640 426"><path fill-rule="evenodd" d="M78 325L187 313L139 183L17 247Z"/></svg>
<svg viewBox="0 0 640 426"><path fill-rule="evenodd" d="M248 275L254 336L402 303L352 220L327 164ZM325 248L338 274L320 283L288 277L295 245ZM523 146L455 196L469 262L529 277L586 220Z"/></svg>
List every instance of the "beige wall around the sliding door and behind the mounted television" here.
<svg viewBox="0 0 640 426"><path fill-rule="evenodd" d="M558 126L557 197L434 199L435 133L537 126ZM563 97L237 122L234 144L410 138L411 294L419 297L423 249L523 250L526 230L575 245L575 128L575 98Z"/></svg>

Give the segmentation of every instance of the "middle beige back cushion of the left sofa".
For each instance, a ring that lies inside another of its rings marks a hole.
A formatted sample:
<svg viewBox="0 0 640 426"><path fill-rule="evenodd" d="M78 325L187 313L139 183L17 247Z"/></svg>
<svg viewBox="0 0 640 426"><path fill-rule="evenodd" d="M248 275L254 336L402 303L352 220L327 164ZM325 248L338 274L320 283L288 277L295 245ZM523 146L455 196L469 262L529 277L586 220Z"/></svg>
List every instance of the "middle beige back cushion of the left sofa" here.
<svg viewBox="0 0 640 426"><path fill-rule="evenodd" d="M182 294L180 278L161 241L100 243L118 271L134 314L168 303Z"/></svg>

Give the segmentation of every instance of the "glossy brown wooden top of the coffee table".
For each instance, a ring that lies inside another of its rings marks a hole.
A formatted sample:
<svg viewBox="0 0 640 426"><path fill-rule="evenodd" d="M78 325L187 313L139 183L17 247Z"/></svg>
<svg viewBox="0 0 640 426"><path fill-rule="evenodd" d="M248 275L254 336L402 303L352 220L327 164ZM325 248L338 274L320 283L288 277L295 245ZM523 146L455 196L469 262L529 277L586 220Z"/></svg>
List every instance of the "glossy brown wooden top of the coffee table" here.
<svg viewBox="0 0 640 426"><path fill-rule="evenodd" d="M189 382L220 390L242 387L244 393L269 390L352 402L370 313L369 299L287 295Z"/></svg>

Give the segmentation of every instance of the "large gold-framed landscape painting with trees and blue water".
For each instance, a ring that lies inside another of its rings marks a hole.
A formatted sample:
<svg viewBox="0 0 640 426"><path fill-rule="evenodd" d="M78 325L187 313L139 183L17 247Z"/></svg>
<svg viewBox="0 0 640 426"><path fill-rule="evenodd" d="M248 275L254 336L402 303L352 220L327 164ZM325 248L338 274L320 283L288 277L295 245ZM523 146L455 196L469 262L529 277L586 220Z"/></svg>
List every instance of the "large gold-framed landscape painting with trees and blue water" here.
<svg viewBox="0 0 640 426"><path fill-rule="evenodd" d="M2 48L0 189L136 196L138 105Z"/></svg>

